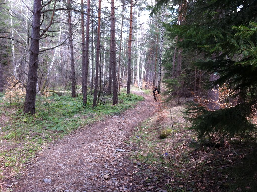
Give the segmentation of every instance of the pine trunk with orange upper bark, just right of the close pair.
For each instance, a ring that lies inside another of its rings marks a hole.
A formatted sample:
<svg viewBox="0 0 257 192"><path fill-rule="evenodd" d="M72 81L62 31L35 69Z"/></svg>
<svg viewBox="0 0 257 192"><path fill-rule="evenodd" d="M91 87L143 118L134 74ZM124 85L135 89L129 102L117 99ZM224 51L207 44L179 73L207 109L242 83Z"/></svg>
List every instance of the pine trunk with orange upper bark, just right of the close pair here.
<svg viewBox="0 0 257 192"><path fill-rule="evenodd" d="M99 55L100 55L100 23L101 23L101 0L98 0L98 25L97 25L97 43L96 43L96 77L95 77L95 90L94 90L94 99L93 99L93 107L96 106L97 100L97 90L98 90L98 66Z"/></svg>

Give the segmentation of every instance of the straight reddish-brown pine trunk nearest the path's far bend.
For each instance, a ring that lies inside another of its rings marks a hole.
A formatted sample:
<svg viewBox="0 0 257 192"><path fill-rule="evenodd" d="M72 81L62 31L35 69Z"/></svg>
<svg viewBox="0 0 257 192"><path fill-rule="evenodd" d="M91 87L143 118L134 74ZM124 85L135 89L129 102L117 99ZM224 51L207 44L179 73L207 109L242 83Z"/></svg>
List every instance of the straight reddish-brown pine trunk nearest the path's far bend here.
<svg viewBox="0 0 257 192"><path fill-rule="evenodd" d="M128 81L127 81L127 94L130 94L130 76L131 76L131 45L132 45L132 9L133 1L130 1L130 18L129 18L129 35L128 35ZM133 76L134 76L134 65L133 65ZM134 78L134 77L132 77Z"/></svg>

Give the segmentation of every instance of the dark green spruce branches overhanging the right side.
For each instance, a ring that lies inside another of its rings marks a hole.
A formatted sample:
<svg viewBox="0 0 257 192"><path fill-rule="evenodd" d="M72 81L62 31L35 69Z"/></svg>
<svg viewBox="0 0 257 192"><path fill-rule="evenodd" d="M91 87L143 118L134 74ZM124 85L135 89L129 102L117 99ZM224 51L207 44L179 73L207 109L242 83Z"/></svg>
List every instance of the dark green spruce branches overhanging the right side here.
<svg viewBox="0 0 257 192"><path fill-rule="evenodd" d="M188 120L199 138L243 137L256 129L249 122L257 103L256 8L257 2L253 0L191 1L183 25L165 24L169 39L177 37L174 46L182 48L184 54L197 51L203 56L200 62L194 62L197 68L219 76L208 82L206 88L226 83L231 87L230 94L238 100L237 105L216 111L191 104L186 114L192 115ZM172 87L170 82L176 85L177 80L164 81Z"/></svg>

